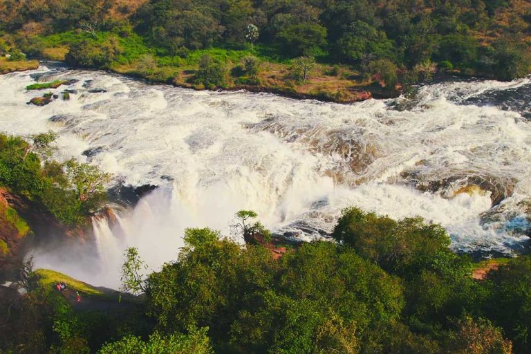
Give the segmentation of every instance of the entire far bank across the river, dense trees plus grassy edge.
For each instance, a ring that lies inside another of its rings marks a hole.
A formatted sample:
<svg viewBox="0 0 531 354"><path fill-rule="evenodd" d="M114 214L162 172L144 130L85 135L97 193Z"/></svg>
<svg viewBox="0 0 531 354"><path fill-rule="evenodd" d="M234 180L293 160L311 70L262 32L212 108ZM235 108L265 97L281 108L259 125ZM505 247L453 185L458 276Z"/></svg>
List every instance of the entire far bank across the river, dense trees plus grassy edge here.
<svg viewBox="0 0 531 354"><path fill-rule="evenodd" d="M0 52L348 101L435 73L523 77L530 24L525 0L3 0Z"/></svg>

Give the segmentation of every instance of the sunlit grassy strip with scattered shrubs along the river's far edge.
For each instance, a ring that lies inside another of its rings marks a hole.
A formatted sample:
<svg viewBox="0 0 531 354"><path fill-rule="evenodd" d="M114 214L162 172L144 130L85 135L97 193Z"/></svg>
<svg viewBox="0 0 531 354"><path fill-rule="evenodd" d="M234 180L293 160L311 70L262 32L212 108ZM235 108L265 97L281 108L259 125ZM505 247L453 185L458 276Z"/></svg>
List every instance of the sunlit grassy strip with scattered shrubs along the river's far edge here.
<svg viewBox="0 0 531 354"><path fill-rule="evenodd" d="M72 67L103 69L147 82L198 91L245 90L348 104L371 97L398 97L402 89L400 84L386 86L382 77L362 73L344 64L312 61L305 69L304 77L297 77L300 68L296 67L296 59L274 59L261 48L209 48L189 51L181 57L158 55L135 34L114 37L109 32L101 32L97 41L102 43L73 47L71 43L80 38L84 37L68 33L42 38L43 48L36 55L40 59L66 62ZM119 54L106 57L102 62L98 54L102 46L112 46L113 52ZM211 62L208 67L201 66L205 58ZM245 68L245 60L249 58L255 61L253 73Z"/></svg>

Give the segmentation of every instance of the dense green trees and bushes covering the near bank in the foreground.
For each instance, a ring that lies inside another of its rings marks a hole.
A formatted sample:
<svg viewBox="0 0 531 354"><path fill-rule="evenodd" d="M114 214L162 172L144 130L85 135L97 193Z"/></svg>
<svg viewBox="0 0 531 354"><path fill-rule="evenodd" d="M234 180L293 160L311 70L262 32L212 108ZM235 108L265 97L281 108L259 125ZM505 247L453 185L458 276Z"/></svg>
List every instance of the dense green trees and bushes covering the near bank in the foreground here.
<svg viewBox="0 0 531 354"><path fill-rule="evenodd" d="M355 208L343 212L333 236L337 243L304 243L274 259L267 245L188 229L176 261L147 278L138 277L142 260L130 248L124 288L143 292L137 299L149 317L124 322L116 322L118 303L99 302L108 299L98 300L98 290L39 270L39 286L17 300L18 317L0 322L0 335L16 324L0 351L531 353L531 257L473 279L480 265L450 252L441 227ZM53 290L65 279L82 296L92 293L90 311Z"/></svg>

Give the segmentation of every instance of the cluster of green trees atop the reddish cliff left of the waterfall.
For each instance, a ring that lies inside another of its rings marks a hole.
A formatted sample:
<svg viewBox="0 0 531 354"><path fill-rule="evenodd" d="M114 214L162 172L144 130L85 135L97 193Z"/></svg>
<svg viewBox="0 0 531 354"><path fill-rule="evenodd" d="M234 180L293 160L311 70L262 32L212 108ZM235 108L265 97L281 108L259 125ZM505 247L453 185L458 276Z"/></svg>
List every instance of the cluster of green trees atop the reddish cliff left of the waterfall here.
<svg viewBox="0 0 531 354"><path fill-rule="evenodd" d="M0 187L43 205L65 225L84 223L105 201L109 175L74 160L50 160L55 138L41 133L28 142L0 133Z"/></svg>

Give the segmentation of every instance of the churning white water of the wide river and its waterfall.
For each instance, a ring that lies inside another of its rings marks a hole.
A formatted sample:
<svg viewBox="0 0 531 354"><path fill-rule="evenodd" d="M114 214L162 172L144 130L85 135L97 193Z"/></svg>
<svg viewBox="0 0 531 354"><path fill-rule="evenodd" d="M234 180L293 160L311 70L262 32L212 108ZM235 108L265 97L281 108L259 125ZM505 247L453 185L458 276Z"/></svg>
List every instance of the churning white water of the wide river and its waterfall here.
<svg viewBox="0 0 531 354"><path fill-rule="evenodd" d="M58 78L77 80L70 101L26 104L41 94L26 85ZM89 265L38 254L38 265L115 286L127 246L156 269L176 259L185 227L228 234L239 209L306 240L330 232L350 205L420 215L443 225L455 249L512 252L528 239L529 107L487 97L522 90L529 94L530 80L447 82L409 100L342 105L42 67L0 76L0 131L53 129L57 158L88 160L128 185L160 186L118 212L113 226L94 221L98 257Z"/></svg>

